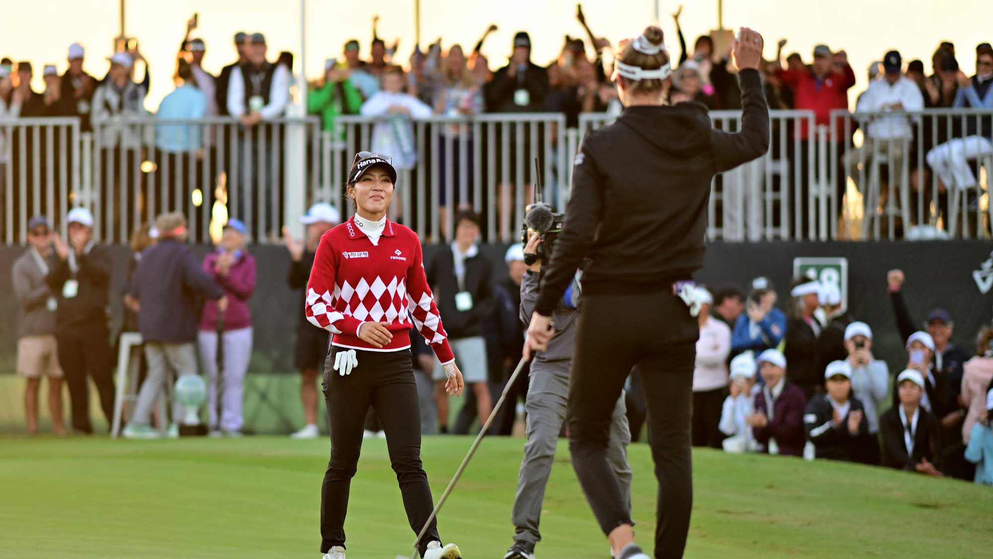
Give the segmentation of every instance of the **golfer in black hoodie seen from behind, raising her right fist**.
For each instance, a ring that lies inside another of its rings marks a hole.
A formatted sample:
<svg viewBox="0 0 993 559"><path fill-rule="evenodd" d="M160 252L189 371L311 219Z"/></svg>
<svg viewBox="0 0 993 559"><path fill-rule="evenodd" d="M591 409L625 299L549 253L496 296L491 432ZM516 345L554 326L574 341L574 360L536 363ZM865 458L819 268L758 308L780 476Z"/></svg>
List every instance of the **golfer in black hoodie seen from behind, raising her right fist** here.
<svg viewBox="0 0 993 559"><path fill-rule="evenodd" d="M699 335L687 280L703 266L711 179L769 148L769 111L758 67L762 37L742 28L735 44L741 131L712 128L696 102L662 105L669 56L662 31L619 49L615 81L627 108L586 135L576 156L565 228L555 244L524 354L542 351L549 316L584 258L569 392L569 447L580 484L619 559L647 559L607 461L614 402L638 366L658 478L655 557L681 557L692 507L690 403ZM687 308L689 306L690 308Z"/></svg>

